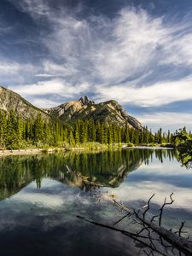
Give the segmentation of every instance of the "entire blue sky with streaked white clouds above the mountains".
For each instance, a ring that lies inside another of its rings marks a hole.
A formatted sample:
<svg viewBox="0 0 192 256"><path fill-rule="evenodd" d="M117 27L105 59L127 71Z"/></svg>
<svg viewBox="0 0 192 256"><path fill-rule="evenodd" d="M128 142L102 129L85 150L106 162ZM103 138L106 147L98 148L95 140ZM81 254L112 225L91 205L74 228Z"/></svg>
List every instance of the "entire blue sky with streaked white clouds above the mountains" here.
<svg viewBox="0 0 192 256"><path fill-rule="evenodd" d="M1 0L0 84L49 108L114 99L192 130L191 0Z"/></svg>

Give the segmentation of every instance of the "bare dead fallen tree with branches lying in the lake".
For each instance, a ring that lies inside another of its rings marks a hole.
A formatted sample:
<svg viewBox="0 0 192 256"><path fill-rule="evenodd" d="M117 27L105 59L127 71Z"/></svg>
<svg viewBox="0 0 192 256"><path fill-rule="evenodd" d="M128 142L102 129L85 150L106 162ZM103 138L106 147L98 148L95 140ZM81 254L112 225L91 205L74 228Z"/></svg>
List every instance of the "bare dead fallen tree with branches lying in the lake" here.
<svg viewBox="0 0 192 256"><path fill-rule="evenodd" d="M166 250L166 254L165 254L165 253L161 252L159 249L157 249L157 247L155 247L154 241L157 239L152 238L152 236L151 236L152 232L155 232L157 235L159 235L160 244L162 246L164 246L165 248L172 247L172 250L174 248L177 248L180 255L181 255L181 253L184 253L185 255L192 255L192 241L181 236L183 233L182 229L183 229L184 222L182 222L179 230L175 233L172 232L172 230L166 230L165 227L161 226L164 208L167 205L172 205L172 203L174 202L174 200L172 199L172 195L173 194L170 195L170 201L166 201L166 198L165 198L165 201L164 201L162 207L160 207L160 213L158 215L153 216L150 220L148 218L146 218L146 215L150 208L150 201L154 197L154 195L152 195L149 198L147 204L144 207L141 207L139 209L125 207L125 205L123 204L122 201L116 201L113 195L109 195L109 198L112 199L114 206L118 207L118 209L120 211L125 212L125 215L123 217L119 218L119 220L117 220L115 223L113 223L112 226L107 225L107 224L97 223L94 220L90 220L88 218L84 218L81 216L77 216L77 217L84 219L84 221L87 221L90 224L96 224L101 227L108 228L110 230L119 231L125 236L130 236L134 240L142 242L144 246L147 246L148 248L151 249L150 253L145 252L147 255L154 255L153 252L160 253L161 255L168 255L167 250ZM120 229L114 227L115 225L119 224L123 219L130 218L130 217L133 219L134 223L140 224L143 226L142 230L140 230L139 232L137 232L135 234L135 233L131 233L127 230L120 230ZM159 221L158 221L159 225L154 224L154 218L159 218ZM142 236L141 234L143 233L143 231L146 231L148 233L148 236ZM148 239L149 243L147 243L146 241L143 241L144 239ZM168 242L169 245L165 245L163 242L163 239L166 242Z"/></svg>

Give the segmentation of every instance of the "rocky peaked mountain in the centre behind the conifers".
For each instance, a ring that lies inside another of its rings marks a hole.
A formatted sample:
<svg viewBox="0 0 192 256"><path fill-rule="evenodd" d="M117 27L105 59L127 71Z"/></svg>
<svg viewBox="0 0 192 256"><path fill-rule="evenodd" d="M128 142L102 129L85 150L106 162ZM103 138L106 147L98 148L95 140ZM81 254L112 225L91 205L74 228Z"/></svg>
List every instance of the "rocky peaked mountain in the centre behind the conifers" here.
<svg viewBox="0 0 192 256"><path fill-rule="evenodd" d="M43 108L44 112L49 113L55 118L73 123L76 119L95 119L103 122L112 122L117 125L128 123L130 127L142 130L141 123L132 117L116 101L95 103L87 96L82 96L78 101L66 102L55 108Z"/></svg>

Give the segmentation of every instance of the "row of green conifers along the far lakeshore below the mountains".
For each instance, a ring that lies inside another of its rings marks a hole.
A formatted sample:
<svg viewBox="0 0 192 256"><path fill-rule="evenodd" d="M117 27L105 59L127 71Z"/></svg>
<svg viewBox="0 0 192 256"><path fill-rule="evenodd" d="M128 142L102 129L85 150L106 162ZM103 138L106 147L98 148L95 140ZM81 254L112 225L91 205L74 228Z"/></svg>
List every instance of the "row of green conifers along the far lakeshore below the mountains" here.
<svg viewBox="0 0 192 256"><path fill-rule="evenodd" d="M21 119L14 111L9 114L0 112L0 148L30 148L55 146L75 146L84 143L169 143L171 134L162 134L162 130L154 135L147 127L143 131L130 128L129 125L119 127L113 123L100 121L77 120L73 126L46 121L38 114L36 119Z"/></svg>

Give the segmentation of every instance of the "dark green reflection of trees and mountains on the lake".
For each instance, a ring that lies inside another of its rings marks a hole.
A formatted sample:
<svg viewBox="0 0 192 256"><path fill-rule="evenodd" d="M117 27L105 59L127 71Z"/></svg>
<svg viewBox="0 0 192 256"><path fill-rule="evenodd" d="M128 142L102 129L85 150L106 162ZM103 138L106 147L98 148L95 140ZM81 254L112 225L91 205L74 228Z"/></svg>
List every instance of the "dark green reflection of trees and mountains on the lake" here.
<svg viewBox="0 0 192 256"><path fill-rule="evenodd" d="M43 177L50 177L70 187L89 190L90 184L119 187L129 172L155 158L172 160L173 150L127 149L102 152L67 152L12 156L0 160L0 199L14 195L35 181L41 188Z"/></svg>

